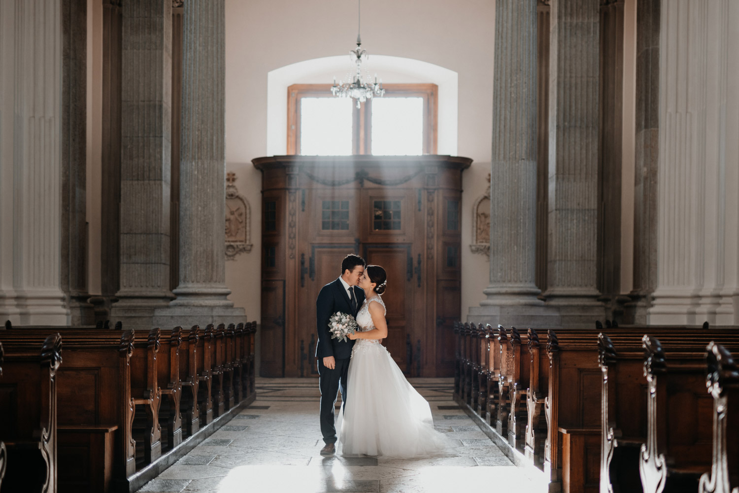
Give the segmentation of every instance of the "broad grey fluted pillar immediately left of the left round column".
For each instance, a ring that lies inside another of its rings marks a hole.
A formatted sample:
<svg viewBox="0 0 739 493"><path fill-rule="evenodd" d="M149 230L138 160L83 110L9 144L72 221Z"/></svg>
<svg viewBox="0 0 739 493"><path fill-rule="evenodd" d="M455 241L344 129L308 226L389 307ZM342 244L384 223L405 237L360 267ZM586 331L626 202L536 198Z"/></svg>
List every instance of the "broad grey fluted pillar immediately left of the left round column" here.
<svg viewBox="0 0 739 493"><path fill-rule="evenodd" d="M171 0L123 1L120 290L112 319L151 327L169 290Z"/></svg>

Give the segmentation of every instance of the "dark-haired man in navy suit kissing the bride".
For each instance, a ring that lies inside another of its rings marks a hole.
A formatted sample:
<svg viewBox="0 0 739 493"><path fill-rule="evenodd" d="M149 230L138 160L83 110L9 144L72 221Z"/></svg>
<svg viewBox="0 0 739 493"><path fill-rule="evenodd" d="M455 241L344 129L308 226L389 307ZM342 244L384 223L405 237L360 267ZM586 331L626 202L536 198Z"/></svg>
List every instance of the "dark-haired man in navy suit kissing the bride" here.
<svg viewBox="0 0 739 493"><path fill-rule="evenodd" d="M319 388L321 389L321 433L326 446L321 455L332 455L336 452L336 426L333 423L334 407L338 389L341 387L341 399L347 401L347 373L349 359L352 356L354 341L331 339L329 319L336 312L357 316L359 307L364 302L364 290L355 288L364 273L365 262L361 256L349 254L341 262L341 276L329 282L316 299L316 326L319 332L319 343L316 344L316 358L319 364Z"/></svg>

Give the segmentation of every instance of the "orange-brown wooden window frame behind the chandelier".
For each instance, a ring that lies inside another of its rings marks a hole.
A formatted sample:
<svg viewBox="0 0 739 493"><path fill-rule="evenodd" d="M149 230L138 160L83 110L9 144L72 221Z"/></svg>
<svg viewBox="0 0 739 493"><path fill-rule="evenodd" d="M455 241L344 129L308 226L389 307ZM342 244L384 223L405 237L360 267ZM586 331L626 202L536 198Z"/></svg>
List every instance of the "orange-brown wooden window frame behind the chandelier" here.
<svg viewBox="0 0 739 493"><path fill-rule="evenodd" d="M436 84L383 84L383 98L423 98L423 154L437 153L438 86ZM336 98L331 84L293 84L287 88L287 154L300 151L300 100ZM372 154L372 99L352 106L352 155Z"/></svg>

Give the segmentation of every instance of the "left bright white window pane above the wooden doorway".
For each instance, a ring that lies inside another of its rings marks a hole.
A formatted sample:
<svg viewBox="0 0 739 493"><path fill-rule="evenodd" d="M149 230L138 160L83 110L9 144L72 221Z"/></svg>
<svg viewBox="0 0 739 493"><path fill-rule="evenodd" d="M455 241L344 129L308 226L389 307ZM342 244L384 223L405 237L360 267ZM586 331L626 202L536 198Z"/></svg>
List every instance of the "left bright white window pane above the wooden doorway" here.
<svg viewBox="0 0 739 493"><path fill-rule="evenodd" d="M348 98L300 100L300 154L305 156L352 154L352 100Z"/></svg>

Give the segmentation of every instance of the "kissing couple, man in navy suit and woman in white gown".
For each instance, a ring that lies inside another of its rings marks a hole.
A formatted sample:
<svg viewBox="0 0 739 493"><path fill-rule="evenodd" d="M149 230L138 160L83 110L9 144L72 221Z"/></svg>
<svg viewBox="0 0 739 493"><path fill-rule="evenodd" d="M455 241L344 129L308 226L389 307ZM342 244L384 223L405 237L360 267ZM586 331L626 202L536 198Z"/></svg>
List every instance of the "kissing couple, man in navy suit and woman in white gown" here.
<svg viewBox="0 0 739 493"><path fill-rule="evenodd" d="M321 288L316 300L321 434L326 444L321 455L418 458L439 455L449 447L434 429L429 403L380 344L387 337L381 298L386 279L384 268L349 254L341 262L341 276ZM335 313L356 320L358 327L346 340L331 337ZM340 389L341 411L335 423Z"/></svg>

